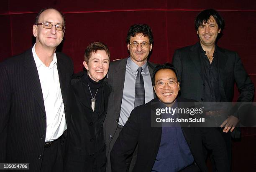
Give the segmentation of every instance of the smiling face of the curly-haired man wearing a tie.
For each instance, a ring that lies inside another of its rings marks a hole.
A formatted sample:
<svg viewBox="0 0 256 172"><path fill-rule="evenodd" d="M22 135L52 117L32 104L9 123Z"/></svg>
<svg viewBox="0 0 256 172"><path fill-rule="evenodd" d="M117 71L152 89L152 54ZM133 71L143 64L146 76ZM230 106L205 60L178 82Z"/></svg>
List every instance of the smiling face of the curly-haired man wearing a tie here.
<svg viewBox="0 0 256 172"><path fill-rule="evenodd" d="M149 43L148 37L143 36L142 33L135 35L135 37L131 36L130 42L128 42L127 47L130 52L131 60L135 62L138 66L142 66L147 62L148 54L152 49L152 44L148 45L147 48L142 48L141 44L138 45L136 48L132 48L129 43L142 43L147 42Z"/></svg>

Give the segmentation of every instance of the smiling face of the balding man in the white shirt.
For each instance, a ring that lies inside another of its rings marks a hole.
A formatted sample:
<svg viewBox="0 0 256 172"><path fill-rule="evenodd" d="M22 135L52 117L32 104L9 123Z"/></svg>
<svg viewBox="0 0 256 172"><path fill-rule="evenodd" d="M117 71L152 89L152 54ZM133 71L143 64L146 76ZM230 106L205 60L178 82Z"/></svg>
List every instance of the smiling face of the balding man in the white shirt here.
<svg viewBox="0 0 256 172"><path fill-rule="evenodd" d="M63 18L58 11L48 9L39 16L38 23L43 22L63 25ZM64 31L56 30L55 26L51 29L46 29L42 25L33 25L33 35L36 37L36 47L56 48L62 41Z"/></svg>

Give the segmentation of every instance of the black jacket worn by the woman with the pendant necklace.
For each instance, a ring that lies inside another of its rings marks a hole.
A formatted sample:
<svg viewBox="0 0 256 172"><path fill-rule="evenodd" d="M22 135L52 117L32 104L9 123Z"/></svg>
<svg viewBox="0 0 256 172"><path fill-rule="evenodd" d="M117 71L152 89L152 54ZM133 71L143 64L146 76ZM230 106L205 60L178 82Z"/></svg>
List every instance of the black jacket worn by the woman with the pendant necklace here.
<svg viewBox="0 0 256 172"><path fill-rule="evenodd" d="M97 172L105 172L106 153L102 126L107 113L111 88L107 82L102 81L99 89L103 90L104 111L95 119L92 117L95 114L92 114L91 97L86 95L85 87L88 86L84 80L84 72L72 78L72 85L68 94L68 112L71 120L68 131L66 170L92 172L95 160Z"/></svg>

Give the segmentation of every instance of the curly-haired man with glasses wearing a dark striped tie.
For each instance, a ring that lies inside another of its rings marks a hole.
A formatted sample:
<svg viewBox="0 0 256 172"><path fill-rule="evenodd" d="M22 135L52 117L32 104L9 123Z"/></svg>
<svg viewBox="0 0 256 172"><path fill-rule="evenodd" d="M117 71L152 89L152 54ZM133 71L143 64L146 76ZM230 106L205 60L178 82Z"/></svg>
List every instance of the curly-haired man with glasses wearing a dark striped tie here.
<svg viewBox="0 0 256 172"><path fill-rule="evenodd" d="M129 57L110 63L108 83L112 88L108 112L104 122L107 150L107 172L111 172L110 152L134 107L154 98L152 72L155 65L148 62L154 39L146 24L132 25L127 34ZM136 153L134 154L136 155ZM132 162L129 171L136 162Z"/></svg>

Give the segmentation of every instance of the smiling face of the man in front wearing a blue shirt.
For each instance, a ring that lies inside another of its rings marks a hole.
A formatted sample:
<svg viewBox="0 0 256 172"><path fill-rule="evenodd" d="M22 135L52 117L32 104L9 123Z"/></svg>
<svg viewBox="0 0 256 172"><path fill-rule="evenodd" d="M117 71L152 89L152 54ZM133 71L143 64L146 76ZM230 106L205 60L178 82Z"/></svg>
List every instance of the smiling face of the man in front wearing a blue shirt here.
<svg viewBox="0 0 256 172"><path fill-rule="evenodd" d="M173 103L176 100L179 93L179 82L175 82L176 85L174 87L170 87L167 83L165 83L163 88L156 87L156 83L159 81L166 82L166 80L174 80L177 82L177 77L175 72L170 69L160 69L156 72L155 75L155 85L154 90L156 92L156 96L166 104Z"/></svg>

